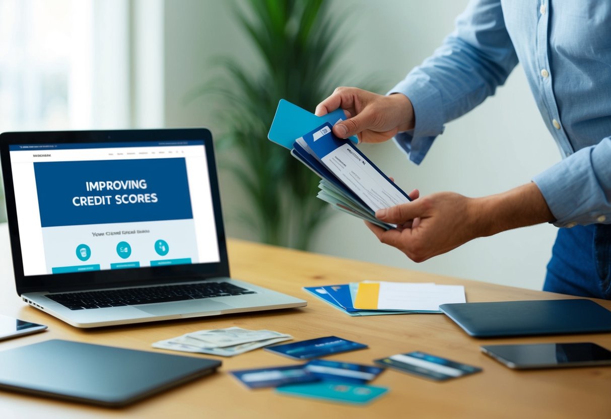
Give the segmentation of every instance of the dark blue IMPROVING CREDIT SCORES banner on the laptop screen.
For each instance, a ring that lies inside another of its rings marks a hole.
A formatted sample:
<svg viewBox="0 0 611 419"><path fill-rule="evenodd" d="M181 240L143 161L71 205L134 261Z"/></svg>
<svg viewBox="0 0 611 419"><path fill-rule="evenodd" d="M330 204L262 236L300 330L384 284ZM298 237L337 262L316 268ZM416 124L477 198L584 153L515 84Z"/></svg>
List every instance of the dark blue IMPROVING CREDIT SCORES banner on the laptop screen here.
<svg viewBox="0 0 611 419"><path fill-rule="evenodd" d="M42 227L192 219L184 158L35 162Z"/></svg>

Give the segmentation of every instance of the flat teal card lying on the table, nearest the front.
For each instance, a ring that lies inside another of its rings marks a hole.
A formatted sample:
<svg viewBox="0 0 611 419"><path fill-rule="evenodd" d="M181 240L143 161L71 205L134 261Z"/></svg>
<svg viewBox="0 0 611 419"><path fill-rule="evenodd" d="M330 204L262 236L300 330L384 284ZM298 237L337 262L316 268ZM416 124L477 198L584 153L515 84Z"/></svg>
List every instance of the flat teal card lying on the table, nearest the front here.
<svg viewBox="0 0 611 419"><path fill-rule="evenodd" d="M338 403L367 404L388 392L386 387L355 385L334 382L290 384L276 388L282 395L321 399Z"/></svg>

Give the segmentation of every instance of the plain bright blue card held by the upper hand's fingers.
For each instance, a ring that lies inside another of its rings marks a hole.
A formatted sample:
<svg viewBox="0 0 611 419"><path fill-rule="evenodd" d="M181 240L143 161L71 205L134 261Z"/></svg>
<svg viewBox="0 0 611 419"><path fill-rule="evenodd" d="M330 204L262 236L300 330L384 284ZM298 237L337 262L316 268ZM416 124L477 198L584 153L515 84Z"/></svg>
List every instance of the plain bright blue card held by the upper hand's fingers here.
<svg viewBox="0 0 611 419"><path fill-rule="evenodd" d="M290 103L288 100L280 99L276 115L269 128L268 138L276 144L282 145L289 150L293 148L293 142L305 133L309 133L317 126L328 122L335 125L340 120L345 120L346 115L342 109L335 109L330 114L321 117L301 109L296 104ZM350 140L357 144L357 137L350 137Z"/></svg>

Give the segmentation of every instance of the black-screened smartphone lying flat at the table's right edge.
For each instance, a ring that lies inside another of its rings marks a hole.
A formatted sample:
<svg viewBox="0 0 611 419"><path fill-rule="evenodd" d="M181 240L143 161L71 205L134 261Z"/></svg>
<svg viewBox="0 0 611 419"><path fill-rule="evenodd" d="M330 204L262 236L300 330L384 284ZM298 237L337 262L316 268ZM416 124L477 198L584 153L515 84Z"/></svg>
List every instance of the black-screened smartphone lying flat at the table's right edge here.
<svg viewBox="0 0 611 419"><path fill-rule="evenodd" d="M596 343L485 345L481 351L516 370L611 365L611 351Z"/></svg>

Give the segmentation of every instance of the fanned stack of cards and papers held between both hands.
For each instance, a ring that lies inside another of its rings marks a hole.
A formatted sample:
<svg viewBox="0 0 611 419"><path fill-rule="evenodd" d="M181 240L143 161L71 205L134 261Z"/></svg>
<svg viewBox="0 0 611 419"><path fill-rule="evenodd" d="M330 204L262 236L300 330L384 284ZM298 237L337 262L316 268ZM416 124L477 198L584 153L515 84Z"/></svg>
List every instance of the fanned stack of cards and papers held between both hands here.
<svg viewBox="0 0 611 419"><path fill-rule="evenodd" d="M394 224L376 219L375 211L409 202L408 194L390 181L351 140L339 139L332 133L332 126L343 119L343 111L338 111L316 117L281 100L268 137L290 148L291 155L321 177L318 198L382 228L395 228ZM291 124L301 128L309 126L309 132L296 134L289 128Z"/></svg>

